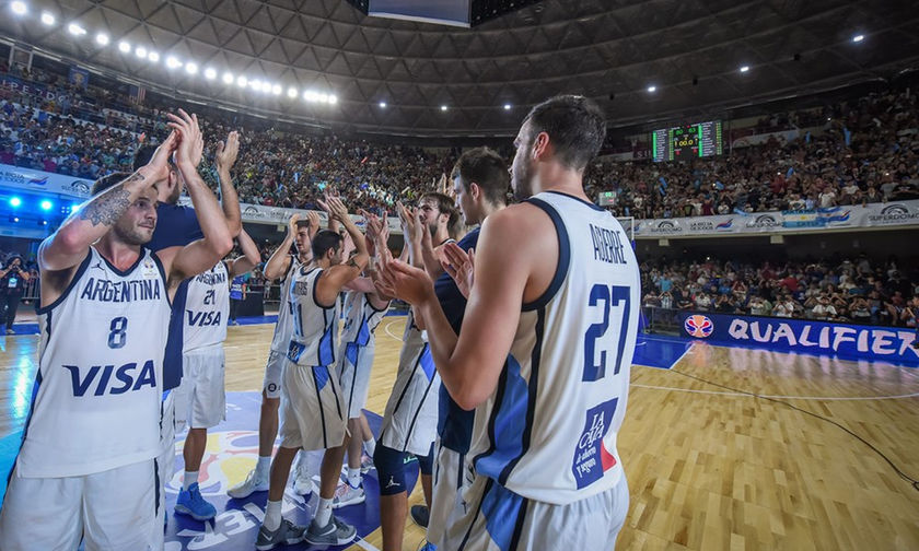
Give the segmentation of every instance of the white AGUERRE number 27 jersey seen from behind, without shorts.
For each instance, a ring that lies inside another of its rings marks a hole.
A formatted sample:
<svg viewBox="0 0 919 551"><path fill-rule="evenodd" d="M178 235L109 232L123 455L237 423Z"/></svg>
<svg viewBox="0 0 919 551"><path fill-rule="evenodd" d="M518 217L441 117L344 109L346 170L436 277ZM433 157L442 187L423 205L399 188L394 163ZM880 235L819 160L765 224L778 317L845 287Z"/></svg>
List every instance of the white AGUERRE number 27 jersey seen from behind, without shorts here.
<svg viewBox="0 0 919 551"><path fill-rule="evenodd" d="M498 388L476 410L478 474L524 497L568 504L623 476L616 436L638 336L638 262L619 222L558 192L527 202L552 220L559 262L522 306Z"/></svg>

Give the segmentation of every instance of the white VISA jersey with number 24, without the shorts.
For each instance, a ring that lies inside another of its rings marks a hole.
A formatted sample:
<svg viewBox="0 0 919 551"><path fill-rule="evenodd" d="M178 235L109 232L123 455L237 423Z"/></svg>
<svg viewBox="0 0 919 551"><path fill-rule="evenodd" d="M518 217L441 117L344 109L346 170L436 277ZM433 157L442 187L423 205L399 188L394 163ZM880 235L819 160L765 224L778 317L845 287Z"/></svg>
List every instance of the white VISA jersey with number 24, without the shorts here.
<svg viewBox="0 0 919 551"><path fill-rule="evenodd" d="M230 284L226 263L221 260L210 270L183 282L174 307L182 312L183 351L214 347L226 340L230 316Z"/></svg>

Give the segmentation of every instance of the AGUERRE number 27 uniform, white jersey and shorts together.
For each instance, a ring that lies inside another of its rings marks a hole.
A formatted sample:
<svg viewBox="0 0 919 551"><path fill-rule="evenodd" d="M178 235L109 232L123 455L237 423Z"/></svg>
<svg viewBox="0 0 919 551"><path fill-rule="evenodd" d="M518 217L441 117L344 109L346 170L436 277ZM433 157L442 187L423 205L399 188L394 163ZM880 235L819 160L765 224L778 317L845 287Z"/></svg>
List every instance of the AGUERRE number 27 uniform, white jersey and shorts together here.
<svg viewBox="0 0 919 551"><path fill-rule="evenodd" d="M609 549L628 511L616 436L638 335L638 262L608 212L558 192L559 262L522 306L495 392L476 409L475 481L445 549ZM440 547L440 546L439 546Z"/></svg>

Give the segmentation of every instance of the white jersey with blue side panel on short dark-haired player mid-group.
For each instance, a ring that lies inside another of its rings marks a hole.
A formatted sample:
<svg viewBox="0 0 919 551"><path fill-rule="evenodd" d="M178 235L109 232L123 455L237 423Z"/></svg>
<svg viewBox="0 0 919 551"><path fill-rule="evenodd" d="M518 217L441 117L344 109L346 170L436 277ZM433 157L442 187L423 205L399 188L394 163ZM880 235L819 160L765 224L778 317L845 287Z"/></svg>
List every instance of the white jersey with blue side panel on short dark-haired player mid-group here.
<svg viewBox="0 0 919 551"><path fill-rule="evenodd" d="M338 297L328 308L316 303L316 282L322 273L322 268L302 266L294 272L288 290L293 332L287 354L298 365L316 367L335 364Z"/></svg>

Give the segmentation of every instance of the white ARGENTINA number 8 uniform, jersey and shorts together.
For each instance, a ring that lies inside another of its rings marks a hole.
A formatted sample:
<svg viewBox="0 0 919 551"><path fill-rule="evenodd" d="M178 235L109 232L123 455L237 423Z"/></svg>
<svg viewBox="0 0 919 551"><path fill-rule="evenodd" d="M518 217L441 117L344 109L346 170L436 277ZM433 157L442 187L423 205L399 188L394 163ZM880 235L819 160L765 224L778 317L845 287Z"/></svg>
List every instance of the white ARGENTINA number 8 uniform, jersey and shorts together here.
<svg viewBox="0 0 919 551"><path fill-rule="evenodd" d="M148 549L155 515L166 278L141 248L120 271L90 247L39 308L38 371L0 512L0 549Z"/></svg>

